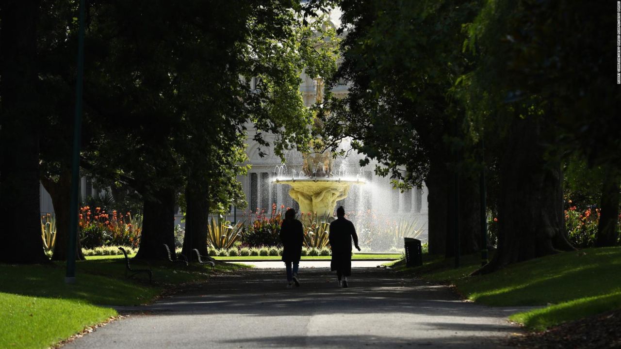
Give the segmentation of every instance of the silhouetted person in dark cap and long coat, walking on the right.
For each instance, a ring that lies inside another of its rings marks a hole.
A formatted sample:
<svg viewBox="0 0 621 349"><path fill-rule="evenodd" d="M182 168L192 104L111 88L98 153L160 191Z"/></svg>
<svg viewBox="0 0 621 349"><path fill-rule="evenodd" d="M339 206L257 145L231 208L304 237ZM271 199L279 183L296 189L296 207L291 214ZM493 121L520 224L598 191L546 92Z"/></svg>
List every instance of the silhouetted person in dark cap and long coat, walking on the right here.
<svg viewBox="0 0 621 349"><path fill-rule="evenodd" d="M356 229L350 220L345 219L343 206L338 207L337 219L330 223L328 238L332 247L330 269L337 272L338 286L347 288L347 276L351 275L351 240L358 251L360 247L358 247Z"/></svg>

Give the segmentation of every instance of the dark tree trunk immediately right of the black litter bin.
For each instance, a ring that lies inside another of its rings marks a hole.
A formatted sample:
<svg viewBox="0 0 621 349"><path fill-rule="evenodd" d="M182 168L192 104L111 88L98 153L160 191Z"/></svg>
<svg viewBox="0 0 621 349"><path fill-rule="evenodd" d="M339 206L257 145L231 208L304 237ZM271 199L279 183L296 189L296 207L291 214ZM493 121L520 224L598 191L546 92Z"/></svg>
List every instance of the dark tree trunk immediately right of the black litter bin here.
<svg viewBox="0 0 621 349"><path fill-rule="evenodd" d="M448 193L449 172L440 156L432 158L429 174L425 179L429 194L428 213L428 247L432 255L441 255L446 251L446 234L448 232Z"/></svg>

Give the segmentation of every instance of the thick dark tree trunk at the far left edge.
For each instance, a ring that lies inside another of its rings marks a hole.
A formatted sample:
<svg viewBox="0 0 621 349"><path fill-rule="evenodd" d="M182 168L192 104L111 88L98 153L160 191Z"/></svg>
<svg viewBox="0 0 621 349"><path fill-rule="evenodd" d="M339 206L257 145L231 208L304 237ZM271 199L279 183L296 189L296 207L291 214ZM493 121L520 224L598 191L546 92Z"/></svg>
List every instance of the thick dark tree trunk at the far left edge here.
<svg viewBox="0 0 621 349"><path fill-rule="evenodd" d="M0 261L43 263L49 260L39 207L39 1L3 0L0 6Z"/></svg>

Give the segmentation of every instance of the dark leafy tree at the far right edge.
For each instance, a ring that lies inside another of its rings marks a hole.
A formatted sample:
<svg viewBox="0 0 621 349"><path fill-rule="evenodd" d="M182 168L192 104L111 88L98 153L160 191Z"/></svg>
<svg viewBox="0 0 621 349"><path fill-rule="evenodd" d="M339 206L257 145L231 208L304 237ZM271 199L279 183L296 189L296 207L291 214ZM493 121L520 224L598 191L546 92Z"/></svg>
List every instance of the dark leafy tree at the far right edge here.
<svg viewBox="0 0 621 349"><path fill-rule="evenodd" d="M598 246L617 244L621 198L621 124L616 116L621 92L610 87L607 76L617 58L609 49L615 38L606 32L615 24L609 11L605 2L520 1L512 19L508 64L515 78L512 91L537 94L551 104L556 145L604 169ZM574 35L565 34L575 28L580 30Z"/></svg>

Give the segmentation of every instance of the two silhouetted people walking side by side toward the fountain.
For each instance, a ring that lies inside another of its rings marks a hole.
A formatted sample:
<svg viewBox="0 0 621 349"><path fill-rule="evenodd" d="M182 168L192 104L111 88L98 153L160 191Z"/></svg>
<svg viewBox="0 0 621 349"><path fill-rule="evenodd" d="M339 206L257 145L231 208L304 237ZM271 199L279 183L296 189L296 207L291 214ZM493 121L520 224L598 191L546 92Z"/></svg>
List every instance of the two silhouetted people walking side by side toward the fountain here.
<svg viewBox="0 0 621 349"><path fill-rule="evenodd" d="M283 242L283 261L287 268L287 287L293 284L300 286L297 278L300 258L302 255L302 242L304 241L304 229L302 222L296 219L296 210L288 209L284 213L283 225L280 229L280 239ZM330 247L332 247L332 261L330 270L337 272L338 286L347 288L347 277L351 275L351 240L358 247L358 235L350 220L345 219L345 209L339 206L337 219L330 223Z"/></svg>

